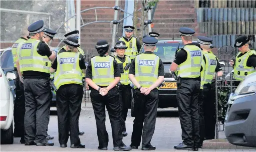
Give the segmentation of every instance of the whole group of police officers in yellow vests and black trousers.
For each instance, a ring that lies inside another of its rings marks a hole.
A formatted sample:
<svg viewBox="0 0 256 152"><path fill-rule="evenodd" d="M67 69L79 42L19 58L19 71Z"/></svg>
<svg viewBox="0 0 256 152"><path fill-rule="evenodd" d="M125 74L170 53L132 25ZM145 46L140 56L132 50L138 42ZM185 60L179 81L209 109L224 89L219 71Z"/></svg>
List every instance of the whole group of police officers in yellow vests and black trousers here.
<svg viewBox="0 0 256 152"><path fill-rule="evenodd" d="M141 45L133 36L134 27L124 26L124 29L125 36L120 37L114 46L117 55L108 55L108 42L100 40L95 46L99 55L92 57L86 68L84 51L78 43L79 31L65 34L66 45L56 54L47 44L53 39L55 31L44 28L43 20L28 27L29 36L23 34L12 48L15 70L19 75L15 82L15 134L21 137L22 144L54 145L49 141L54 137L49 136L47 130L52 100L50 73L56 72L54 84L57 88L60 147L67 147L70 134L71 148L85 148L79 139L79 135L84 133L79 132L78 127L85 78L91 90L98 150L108 148L105 107L109 114L115 151L138 149L141 138L142 150L156 149L151 145L151 139L155 130L158 90L164 80L164 67L160 57L153 52L157 50L160 34L150 32L150 36L143 37L145 52L138 54ZM211 52L212 39L198 36L197 43L194 43L193 29L181 27L179 31L184 47L177 50L170 71L177 76L182 142L174 149L198 151L203 140L214 139L216 116L211 83L215 73L218 77L223 73L218 59ZM234 65L237 80L255 72L256 52L249 44L250 37L246 36L238 37L234 44L239 53L235 63L231 61L230 64ZM128 134L125 121L132 98L135 119L131 144L126 146L122 139Z"/></svg>

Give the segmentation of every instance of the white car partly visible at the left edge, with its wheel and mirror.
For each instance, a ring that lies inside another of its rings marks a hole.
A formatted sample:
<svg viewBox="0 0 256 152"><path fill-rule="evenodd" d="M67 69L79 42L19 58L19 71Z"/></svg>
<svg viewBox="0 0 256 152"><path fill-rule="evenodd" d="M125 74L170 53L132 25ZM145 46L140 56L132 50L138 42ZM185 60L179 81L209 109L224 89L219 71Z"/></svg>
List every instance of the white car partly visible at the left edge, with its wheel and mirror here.
<svg viewBox="0 0 256 152"><path fill-rule="evenodd" d="M7 72L7 76L0 67L0 103L1 103L1 144L13 144L13 118L14 118L14 96L9 85L9 80L16 78L15 73Z"/></svg>

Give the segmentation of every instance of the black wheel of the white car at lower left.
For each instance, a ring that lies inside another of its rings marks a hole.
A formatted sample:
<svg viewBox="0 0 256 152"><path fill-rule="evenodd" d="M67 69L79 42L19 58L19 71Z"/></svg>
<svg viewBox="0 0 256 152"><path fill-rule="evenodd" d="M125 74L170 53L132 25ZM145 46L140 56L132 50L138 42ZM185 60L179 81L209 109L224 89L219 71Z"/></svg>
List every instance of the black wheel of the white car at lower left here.
<svg viewBox="0 0 256 152"><path fill-rule="evenodd" d="M1 144L14 144L13 123L8 130L1 130Z"/></svg>

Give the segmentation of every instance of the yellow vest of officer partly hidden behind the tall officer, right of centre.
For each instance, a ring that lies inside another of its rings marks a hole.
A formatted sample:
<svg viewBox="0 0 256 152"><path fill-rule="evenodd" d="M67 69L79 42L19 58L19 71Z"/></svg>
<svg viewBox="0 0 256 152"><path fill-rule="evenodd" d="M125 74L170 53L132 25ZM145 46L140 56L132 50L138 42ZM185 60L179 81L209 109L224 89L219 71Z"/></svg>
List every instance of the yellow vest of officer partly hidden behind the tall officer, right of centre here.
<svg viewBox="0 0 256 152"><path fill-rule="evenodd" d="M213 75L215 74L215 69L217 67L216 56L210 52L202 51L205 61L202 60L203 70L201 71L201 89L203 89L204 84L211 84L211 80L213 79Z"/></svg>

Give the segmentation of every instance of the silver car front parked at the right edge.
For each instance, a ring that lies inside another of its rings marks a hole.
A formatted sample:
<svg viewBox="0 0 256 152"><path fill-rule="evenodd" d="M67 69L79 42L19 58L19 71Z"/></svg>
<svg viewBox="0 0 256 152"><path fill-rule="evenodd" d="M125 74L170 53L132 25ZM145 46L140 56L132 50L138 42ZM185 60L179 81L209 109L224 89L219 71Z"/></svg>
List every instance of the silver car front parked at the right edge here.
<svg viewBox="0 0 256 152"><path fill-rule="evenodd" d="M256 147L256 72L238 85L227 104L225 136L228 142Z"/></svg>

